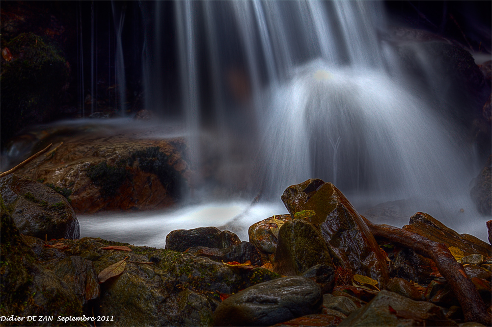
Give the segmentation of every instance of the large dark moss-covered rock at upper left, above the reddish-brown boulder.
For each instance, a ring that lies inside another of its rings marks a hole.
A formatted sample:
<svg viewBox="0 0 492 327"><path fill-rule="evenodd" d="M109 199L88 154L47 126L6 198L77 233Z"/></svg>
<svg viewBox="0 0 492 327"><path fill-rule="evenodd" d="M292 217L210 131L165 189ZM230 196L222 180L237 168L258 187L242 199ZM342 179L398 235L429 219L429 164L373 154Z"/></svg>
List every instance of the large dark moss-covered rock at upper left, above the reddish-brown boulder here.
<svg viewBox="0 0 492 327"><path fill-rule="evenodd" d="M69 66L53 43L33 33L6 42L13 58L1 60L1 142L30 123L55 118L57 104L69 78Z"/></svg>

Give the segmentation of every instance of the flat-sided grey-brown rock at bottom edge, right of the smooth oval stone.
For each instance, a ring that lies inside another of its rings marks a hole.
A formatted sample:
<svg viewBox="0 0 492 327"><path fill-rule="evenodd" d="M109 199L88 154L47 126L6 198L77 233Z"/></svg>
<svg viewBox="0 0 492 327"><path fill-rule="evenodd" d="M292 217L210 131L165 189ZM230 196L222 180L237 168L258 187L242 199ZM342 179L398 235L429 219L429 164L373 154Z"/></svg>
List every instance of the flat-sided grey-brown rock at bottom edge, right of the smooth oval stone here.
<svg viewBox="0 0 492 327"><path fill-rule="evenodd" d="M352 312L338 326L458 326L442 309L382 290L364 308Z"/></svg>

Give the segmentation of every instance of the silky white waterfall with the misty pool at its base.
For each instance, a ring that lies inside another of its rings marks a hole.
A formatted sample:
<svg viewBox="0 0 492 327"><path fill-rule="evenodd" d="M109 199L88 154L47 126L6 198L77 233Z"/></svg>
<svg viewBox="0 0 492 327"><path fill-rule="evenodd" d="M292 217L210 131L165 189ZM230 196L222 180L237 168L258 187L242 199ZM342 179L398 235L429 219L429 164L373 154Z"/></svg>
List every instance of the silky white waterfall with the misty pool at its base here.
<svg viewBox="0 0 492 327"><path fill-rule="evenodd" d="M171 230L216 226L248 240L251 224L287 213L280 196L288 186L320 178L374 222L402 226L422 211L486 240L490 217L469 195L482 158L443 112L445 90L428 87L435 76L418 47L427 84L403 72L381 2L177 1L166 12L144 1L141 10L153 22L144 24L146 109L162 124L176 120L196 171L213 149L219 182L168 210L78 215L81 237L162 247ZM113 15L124 19L114 6ZM170 15L180 90L172 110L160 44ZM120 42L113 56L122 86ZM118 92L124 103L124 87ZM154 137L166 137L156 126Z"/></svg>

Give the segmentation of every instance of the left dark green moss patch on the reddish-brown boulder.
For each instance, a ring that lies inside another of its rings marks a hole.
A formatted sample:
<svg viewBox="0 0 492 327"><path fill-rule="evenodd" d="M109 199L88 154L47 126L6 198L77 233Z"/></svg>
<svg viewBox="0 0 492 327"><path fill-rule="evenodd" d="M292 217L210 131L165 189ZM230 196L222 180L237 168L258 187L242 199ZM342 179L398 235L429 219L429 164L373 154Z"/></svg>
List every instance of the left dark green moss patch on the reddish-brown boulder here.
<svg viewBox="0 0 492 327"><path fill-rule="evenodd" d="M92 183L100 188L99 191L103 197L115 195L116 191L129 177L129 172L126 170L126 164L123 160L116 165L108 165L106 162L91 165L86 172Z"/></svg>

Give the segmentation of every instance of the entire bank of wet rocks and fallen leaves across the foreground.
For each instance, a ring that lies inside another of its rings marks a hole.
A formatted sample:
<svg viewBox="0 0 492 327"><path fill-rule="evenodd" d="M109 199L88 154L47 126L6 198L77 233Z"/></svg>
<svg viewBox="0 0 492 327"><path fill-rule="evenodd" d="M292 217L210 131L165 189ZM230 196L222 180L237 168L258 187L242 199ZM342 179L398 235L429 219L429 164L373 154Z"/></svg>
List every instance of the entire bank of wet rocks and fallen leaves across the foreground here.
<svg viewBox="0 0 492 327"><path fill-rule="evenodd" d="M491 325L490 245L416 213L395 230L442 247L434 261L419 254L417 244L388 241L377 229L384 225L365 220L331 183L289 187L282 200L290 215L255 223L249 242L204 227L171 232L161 249L24 234L22 215L11 204L18 202L4 195L6 181L23 177L7 177L1 180L4 317L107 317L96 326ZM73 225L70 235L77 232ZM449 279L453 265L471 288ZM463 289L476 300L462 301L456 293Z"/></svg>

